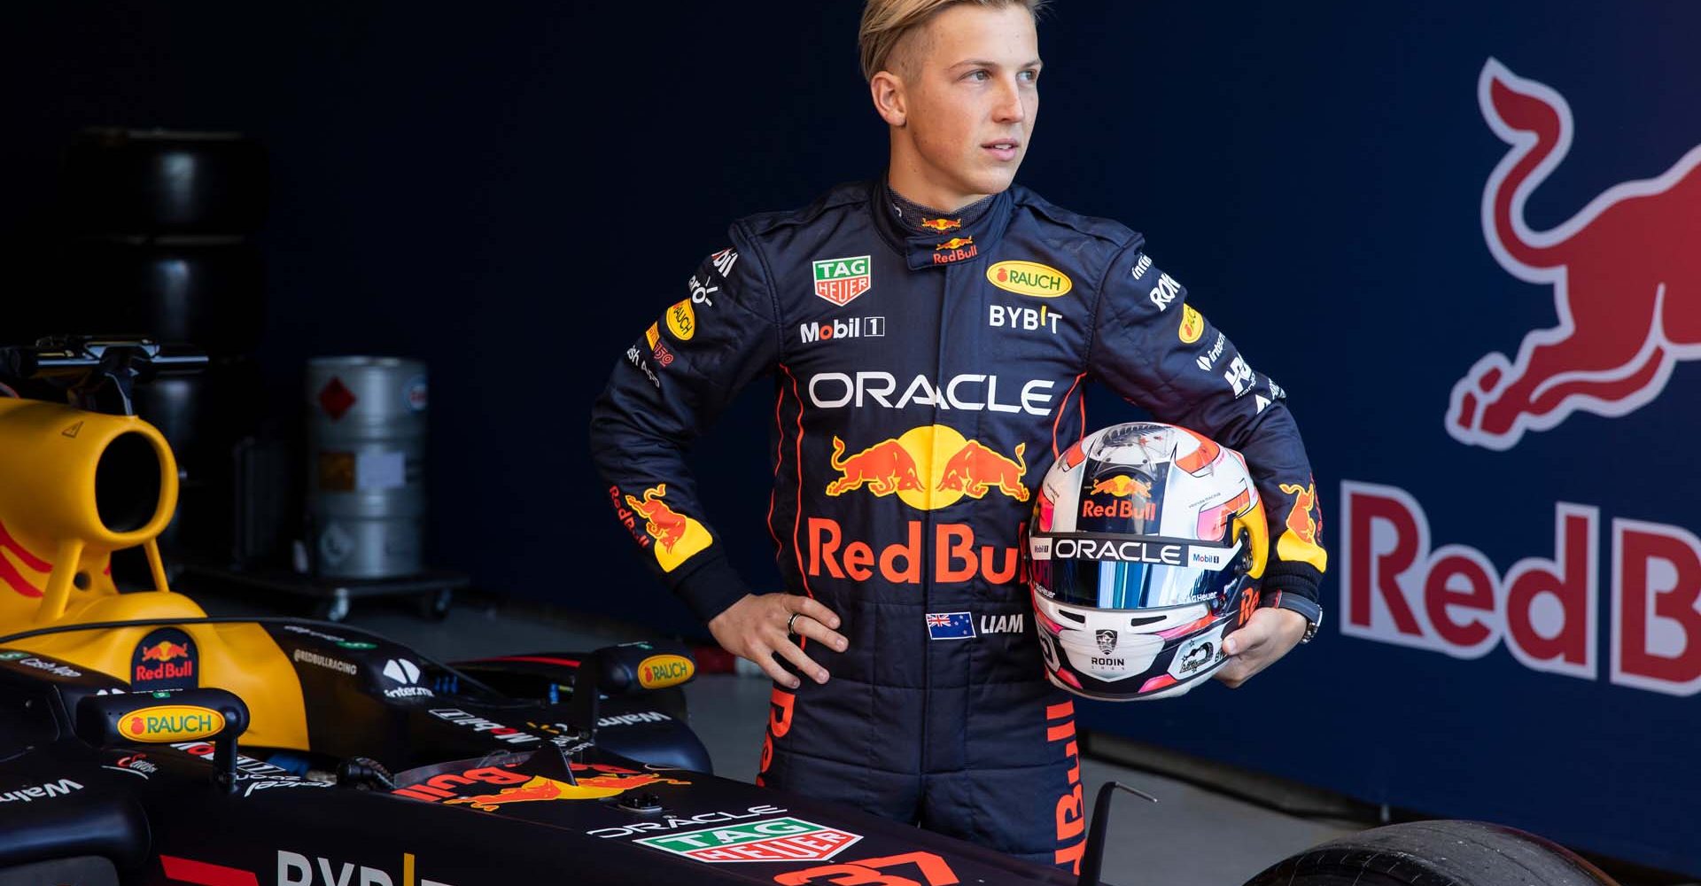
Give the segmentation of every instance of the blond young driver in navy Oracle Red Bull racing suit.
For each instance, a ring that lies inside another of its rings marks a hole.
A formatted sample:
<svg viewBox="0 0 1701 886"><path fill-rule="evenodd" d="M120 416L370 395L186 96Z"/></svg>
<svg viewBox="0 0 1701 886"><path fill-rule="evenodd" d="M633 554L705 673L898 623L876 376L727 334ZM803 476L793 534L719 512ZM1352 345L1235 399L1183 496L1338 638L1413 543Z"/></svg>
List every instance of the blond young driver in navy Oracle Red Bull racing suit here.
<svg viewBox="0 0 1701 886"><path fill-rule="evenodd" d="M1039 5L869 0L886 175L733 224L616 366L592 449L658 575L774 679L764 784L1075 867L1073 706L1043 679L1017 539L1033 486L1087 430L1084 381L1240 449L1257 476L1272 605L1226 639L1225 682L1315 629L1325 554L1288 529L1315 525L1315 495L1281 388L1138 233L1012 187ZM728 566L682 457L764 374L782 594Z"/></svg>

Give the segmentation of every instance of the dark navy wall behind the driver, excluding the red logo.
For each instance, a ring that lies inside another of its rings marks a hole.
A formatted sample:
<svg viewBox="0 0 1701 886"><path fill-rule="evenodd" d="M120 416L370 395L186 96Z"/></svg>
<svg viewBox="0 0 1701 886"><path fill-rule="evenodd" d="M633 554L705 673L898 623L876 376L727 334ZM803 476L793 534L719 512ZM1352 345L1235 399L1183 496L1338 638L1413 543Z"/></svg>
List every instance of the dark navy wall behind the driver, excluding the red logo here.
<svg viewBox="0 0 1701 886"><path fill-rule="evenodd" d="M22 282L0 308L51 291L39 247L71 131L252 133L272 156L277 408L299 401L313 354L430 361L435 559L488 588L691 629L609 519L585 410L731 218L879 172L857 7L9 9L0 260ZM1679 364L1640 410L1579 413L1507 452L1444 434L1451 386L1478 357L1556 323L1551 287L1514 279L1485 245L1483 185L1507 146L1476 80L1499 58L1575 112L1570 155L1527 206L1546 230L1701 143L1698 26L1675 0L1061 2L1041 29L1021 180L1146 231L1194 304L1288 388L1332 546L1354 480L1410 491L1434 546L1471 544L1502 573L1555 556L1555 502L1594 505L1609 559L1614 517L1701 527L1687 444L1701 372ZM735 563L771 585L771 391L757 388L696 461ZM1126 415L1094 405L1094 423ZM1538 673L1504 646L1465 660L1344 636L1335 619L1238 692L1084 719L1701 872L1701 716L1692 697L1606 679L1604 566L1599 580L1596 679ZM1332 576L1332 616L1337 594Z"/></svg>

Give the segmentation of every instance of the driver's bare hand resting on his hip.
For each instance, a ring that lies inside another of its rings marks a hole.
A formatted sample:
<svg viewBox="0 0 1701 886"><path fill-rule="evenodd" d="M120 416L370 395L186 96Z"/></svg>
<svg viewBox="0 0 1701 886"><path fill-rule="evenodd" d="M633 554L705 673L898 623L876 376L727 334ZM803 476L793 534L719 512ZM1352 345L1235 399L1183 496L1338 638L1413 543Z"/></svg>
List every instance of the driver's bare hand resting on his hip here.
<svg viewBox="0 0 1701 886"><path fill-rule="evenodd" d="M779 653L798 672L825 684L827 668L815 663L793 638L810 638L833 651L845 651L850 643L837 628L839 616L832 609L796 594L745 594L709 619L709 633L723 650L755 662L776 684L788 689L798 689L799 680L779 667L774 655Z"/></svg>

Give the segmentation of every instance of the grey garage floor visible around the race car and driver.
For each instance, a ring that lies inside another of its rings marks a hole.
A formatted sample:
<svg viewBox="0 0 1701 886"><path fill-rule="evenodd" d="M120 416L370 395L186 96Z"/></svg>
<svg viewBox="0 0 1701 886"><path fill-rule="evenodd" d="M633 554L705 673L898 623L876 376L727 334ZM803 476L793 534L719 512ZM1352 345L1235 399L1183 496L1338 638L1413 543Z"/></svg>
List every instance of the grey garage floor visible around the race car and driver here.
<svg viewBox="0 0 1701 886"><path fill-rule="evenodd" d="M289 614L304 607L196 594L209 614ZM585 651L609 643L643 639L643 631L583 619L551 617L531 607L461 602L447 621L429 622L412 605L357 602L349 624L408 643L439 660L521 651ZM764 679L704 675L687 687L691 724L703 736L716 774L755 777L769 684ZM1272 813L1230 796L1148 772L1084 760L1087 796L1116 779L1160 799L1157 806L1123 796L1111 821L1104 877L1118 886L1237 886L1271 862L1357 825L1301 820Z"/></svg>

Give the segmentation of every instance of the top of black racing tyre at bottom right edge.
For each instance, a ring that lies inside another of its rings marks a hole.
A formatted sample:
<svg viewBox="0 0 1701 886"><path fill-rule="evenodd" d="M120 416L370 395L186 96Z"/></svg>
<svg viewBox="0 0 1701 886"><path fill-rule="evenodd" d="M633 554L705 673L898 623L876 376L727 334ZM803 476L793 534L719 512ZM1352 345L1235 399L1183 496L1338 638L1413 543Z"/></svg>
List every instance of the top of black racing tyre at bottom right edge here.
<svg viewBox="0 0 1701 886"><path fill-rule="evenodd" d="M1533 833L1482 821L1408 821L1284 859L1245 886L1618 886Z"/></svg>

